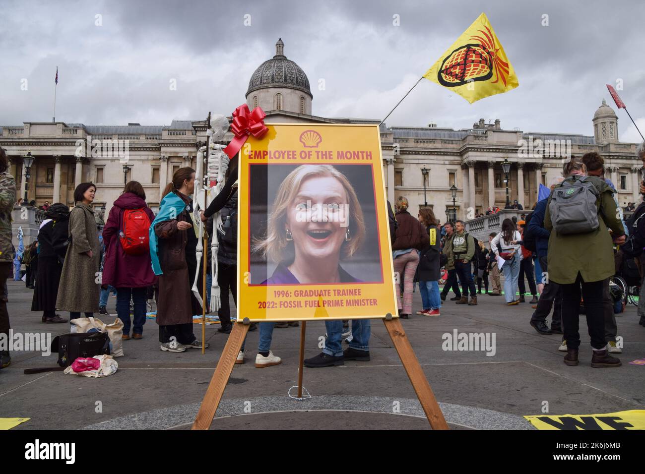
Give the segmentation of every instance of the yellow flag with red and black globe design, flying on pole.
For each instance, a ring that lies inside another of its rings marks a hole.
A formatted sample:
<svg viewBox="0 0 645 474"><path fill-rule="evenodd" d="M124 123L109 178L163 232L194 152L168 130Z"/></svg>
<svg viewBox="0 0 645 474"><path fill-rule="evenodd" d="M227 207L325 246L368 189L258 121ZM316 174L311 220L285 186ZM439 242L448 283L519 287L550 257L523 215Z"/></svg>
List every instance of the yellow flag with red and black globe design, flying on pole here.
<svg viewBox="0 0 645 474"><path fill-rule="evenodd" d="M513 66L483 13L423 77L452 89L471 104L519 85Z"/></svg>

